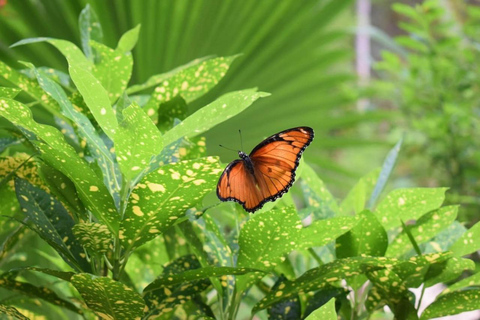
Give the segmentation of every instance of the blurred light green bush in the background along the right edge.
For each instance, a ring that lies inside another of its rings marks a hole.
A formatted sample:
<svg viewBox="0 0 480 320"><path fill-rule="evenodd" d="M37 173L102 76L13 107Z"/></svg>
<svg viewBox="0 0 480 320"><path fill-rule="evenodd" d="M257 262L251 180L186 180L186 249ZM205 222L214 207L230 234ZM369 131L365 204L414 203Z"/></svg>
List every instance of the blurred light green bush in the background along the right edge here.
<svg viewBox="0 0 480 320"><path fill-rule="evenodd" d="M412 7L397 3L395 40L405 55L383 52L375 83L404 117L406 153L420 185L450 187L449 201L480 209L480 8L470 6L465 22L452 20L439 1Z"/></svg>

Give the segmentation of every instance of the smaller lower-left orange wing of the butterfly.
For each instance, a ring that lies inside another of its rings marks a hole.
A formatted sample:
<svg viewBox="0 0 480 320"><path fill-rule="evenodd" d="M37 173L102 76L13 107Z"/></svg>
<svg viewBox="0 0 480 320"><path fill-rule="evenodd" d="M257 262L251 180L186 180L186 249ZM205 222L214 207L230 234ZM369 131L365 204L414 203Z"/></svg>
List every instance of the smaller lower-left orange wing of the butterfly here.
<svg viewBox="0 0 480 320"><path fill-rule="evenodd" d="M232 161L225 168L217 184L217 196L222 201L240 203L248 212L255 211L263 199L243 160Z"/></svg>

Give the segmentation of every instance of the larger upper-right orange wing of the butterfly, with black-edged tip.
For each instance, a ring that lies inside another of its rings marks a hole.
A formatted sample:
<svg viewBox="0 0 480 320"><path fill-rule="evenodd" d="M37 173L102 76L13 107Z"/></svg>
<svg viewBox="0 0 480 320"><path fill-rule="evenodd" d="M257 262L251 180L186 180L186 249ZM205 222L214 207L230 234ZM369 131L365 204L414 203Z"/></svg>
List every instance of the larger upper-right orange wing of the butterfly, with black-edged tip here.
<svg viewBox="0 0 480 320"><path fill-rule="evenodd" d="M281 197L292 186L302 153L313 136L313 129L309 127L288 129L265 139L253 149L249 157L263 196L259 208Z"/></svg>

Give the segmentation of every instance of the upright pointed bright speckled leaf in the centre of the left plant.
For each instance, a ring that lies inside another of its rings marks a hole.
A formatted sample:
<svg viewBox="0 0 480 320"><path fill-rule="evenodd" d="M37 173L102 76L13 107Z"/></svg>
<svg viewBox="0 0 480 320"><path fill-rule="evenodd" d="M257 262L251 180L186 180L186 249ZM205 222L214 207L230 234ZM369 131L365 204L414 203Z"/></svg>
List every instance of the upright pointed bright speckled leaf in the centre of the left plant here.
<svg viewBox="0 0 480 320"><path fill-rule="evenodd" d="M123 110L115 136L115 152L125 181L144 173L152 157L162 151L162 136L152 120L135 103Z"/></svg>

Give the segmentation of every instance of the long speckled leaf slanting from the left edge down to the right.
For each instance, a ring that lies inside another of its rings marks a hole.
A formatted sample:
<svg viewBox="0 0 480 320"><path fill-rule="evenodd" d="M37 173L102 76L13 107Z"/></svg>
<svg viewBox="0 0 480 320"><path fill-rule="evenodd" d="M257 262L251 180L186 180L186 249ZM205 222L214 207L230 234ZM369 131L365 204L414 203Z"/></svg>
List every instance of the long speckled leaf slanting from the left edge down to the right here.
<svg viewBox="0 0 480 320"><path fill-rule="evenodd" d="M29 138L42 152L42 158L73 181L80 199L97 219L103 221L112 232L118 230L119 217L103 181L58 130L35 122L28 107L10 99L0 100L0 116L35 135L31 137L29 134ZM45 143L35 142L38 141L37 137Z"/></svg>

